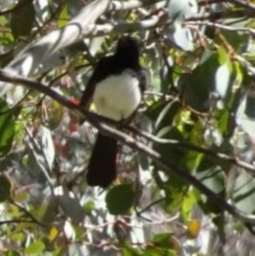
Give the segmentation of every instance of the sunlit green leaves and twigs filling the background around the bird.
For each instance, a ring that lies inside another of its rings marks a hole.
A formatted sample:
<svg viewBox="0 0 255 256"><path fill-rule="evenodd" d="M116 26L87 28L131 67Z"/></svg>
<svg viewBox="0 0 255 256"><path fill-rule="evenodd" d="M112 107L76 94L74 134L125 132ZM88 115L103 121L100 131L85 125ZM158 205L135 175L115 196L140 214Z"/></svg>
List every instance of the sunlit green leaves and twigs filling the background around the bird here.
<svg viewBox="0 0 255 256"><path fill-rule="evenodd" d="M15 84L0 101L1 255L255 255L254 1L200 0L183 20L167 1L112 1L76 40L68 22L90 2L0 0ZM85 181L93 123L25 79L75 103L122 33L149 73L136 117L147 133L129 129L137 141L122 140L118 179L100 190Z"/></svg>

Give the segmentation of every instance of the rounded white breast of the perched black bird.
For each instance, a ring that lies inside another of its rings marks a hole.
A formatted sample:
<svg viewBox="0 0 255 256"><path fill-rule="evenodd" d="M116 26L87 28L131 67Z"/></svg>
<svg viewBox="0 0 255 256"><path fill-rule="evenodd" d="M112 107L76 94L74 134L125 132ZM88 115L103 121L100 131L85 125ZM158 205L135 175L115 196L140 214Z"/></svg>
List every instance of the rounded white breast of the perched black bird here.
<svg viewBox="0 0 255 256"><path fill-rule="evenodd" d="M111 75L97 84L93 100L101 116L115 121L125 119L142 100L139 80L127 70Z"/></svg>

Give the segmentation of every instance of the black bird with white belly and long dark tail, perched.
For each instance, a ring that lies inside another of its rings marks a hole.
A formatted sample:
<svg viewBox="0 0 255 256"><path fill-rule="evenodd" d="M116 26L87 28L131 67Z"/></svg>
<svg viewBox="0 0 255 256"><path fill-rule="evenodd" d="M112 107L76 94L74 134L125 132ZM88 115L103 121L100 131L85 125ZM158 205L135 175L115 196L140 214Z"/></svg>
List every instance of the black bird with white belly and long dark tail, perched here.
<svg viewBox="0 0 255 256"><path fill-rule="evenodd" d="M114 54L99 59L87 82L80 107L94 102L100 116L130 123L146 87L138 42L131 36L117 41ZM87 166L87 184L107 188L117 177L117 140L98 132Z"/></svg>

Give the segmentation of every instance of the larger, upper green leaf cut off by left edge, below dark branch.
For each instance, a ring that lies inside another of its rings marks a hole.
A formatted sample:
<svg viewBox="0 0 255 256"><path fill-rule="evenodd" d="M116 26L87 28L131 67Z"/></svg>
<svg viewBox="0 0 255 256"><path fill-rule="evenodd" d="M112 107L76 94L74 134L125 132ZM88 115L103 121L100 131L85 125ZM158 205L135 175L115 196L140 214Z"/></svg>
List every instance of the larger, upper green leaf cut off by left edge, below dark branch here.
<svg viewBox="0 0 255 256"><path fill-rule="evenodd" d="M0 100L0 134L0 156L3 156L10 151L15 134L13 112L3 100Z"/></svg>

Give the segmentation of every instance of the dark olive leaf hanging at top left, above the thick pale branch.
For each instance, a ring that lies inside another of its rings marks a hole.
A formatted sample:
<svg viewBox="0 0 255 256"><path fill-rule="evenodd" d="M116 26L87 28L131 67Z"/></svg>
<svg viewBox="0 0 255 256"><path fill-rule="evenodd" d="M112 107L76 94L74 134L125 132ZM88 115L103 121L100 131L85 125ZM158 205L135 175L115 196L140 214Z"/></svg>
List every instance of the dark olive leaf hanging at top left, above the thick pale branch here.
<svg viewBox="0 0 255 256"><path fill-rule="evenodd" d="M33 1L20 0L11 11L11 32L15 38L29 36L34 26L35 10Z"/></svg>

